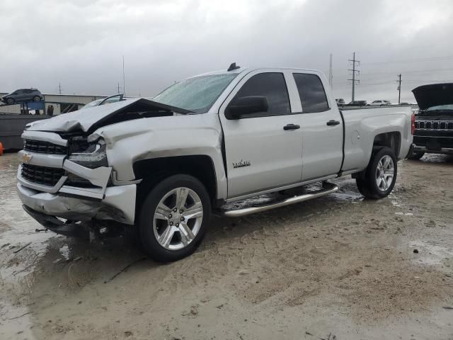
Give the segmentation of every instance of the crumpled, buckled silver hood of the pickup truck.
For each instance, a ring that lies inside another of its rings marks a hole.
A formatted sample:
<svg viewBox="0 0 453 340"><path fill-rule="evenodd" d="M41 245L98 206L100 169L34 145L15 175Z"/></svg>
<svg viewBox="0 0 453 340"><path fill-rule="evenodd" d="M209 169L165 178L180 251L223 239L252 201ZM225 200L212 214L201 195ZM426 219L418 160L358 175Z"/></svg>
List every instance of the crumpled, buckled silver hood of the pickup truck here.
<svg viewBox="0 0 453 340"><path fill-rule="evenodd" d="M63 113L53 118L33 124L28 130L74 132L81 130L91 132L103 125L120 123L137 118L159 117L173 113L190 113L183 108L168 106L144 98L128 99L117 103L94 106L85 110Z"/></svg>

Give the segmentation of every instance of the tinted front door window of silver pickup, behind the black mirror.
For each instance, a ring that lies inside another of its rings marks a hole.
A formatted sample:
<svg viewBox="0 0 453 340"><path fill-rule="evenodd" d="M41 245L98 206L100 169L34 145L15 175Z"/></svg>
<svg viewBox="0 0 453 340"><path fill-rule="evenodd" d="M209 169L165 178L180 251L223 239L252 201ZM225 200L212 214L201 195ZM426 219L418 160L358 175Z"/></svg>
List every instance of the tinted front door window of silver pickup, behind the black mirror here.
<svg viewBox="0 0 453 340"><path fill-rule="evenodd" d="M289 115L291 113L285 76L282 73L256 74L251 79L248 79L246 84L243 84L232 101L236 98L248 96L265 96L268 98L268 112L258 114L256 115L257 117L263 115Z"/></svg>

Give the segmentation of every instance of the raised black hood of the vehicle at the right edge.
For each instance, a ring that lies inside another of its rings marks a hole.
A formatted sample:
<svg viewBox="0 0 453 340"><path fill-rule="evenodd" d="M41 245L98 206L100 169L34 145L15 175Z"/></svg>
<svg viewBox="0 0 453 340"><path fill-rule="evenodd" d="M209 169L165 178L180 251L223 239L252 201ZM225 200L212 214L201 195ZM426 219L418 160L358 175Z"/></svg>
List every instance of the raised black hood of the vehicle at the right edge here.
<svg viewBox="0 0 453 340"><path fill-rule="evenodd" d="M453 104L453 83L418 86L412 90L412 93L421 110L432 106Z"/></svg>

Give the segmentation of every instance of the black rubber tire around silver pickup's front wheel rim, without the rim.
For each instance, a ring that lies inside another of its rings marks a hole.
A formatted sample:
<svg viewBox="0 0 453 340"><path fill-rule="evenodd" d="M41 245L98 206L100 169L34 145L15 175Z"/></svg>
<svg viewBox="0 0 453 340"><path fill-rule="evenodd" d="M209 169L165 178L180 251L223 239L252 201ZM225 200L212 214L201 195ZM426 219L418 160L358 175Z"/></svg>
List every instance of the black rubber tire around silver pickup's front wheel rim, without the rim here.
<svg viewBox="0 0 453 340"><path fill-rule="evenodd" d="M202 203L202 222L195 238L182 249L169 250L161 246L154 234L154 212L167 193L176 188L189 188L194 191ZM205 186L193 176L178 174L164 179L154 186L144 200L139 213L139 235L143 250L155 261L172 262L192 254L205 236L211 217L211 201Z"/></svg>

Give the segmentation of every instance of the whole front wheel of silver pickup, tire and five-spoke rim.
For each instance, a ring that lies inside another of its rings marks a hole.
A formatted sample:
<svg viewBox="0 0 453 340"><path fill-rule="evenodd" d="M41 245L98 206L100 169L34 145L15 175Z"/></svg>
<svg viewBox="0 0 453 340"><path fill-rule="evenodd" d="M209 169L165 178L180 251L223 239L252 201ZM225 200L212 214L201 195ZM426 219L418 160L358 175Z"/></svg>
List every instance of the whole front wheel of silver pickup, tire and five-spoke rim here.
<svg viewBox="0 0 453 340"><path fill-rule="evenodd" d="M183 259L200 245L210 215L209 194L195 177L180 174L164 179L151 190L140 212L144 251L159 262Z"/></svg>

